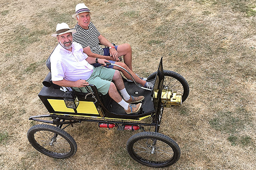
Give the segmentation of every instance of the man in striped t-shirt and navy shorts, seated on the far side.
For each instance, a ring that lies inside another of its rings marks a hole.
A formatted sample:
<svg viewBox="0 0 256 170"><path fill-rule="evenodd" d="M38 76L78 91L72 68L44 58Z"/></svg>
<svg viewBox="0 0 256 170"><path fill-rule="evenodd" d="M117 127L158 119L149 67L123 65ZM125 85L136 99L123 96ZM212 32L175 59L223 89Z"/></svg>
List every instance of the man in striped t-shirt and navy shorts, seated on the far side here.
<svg viewBox="0 0 256 170"><path fill-rule="evenodd" d="M78 20L78 23L75 26L77 33L73 34L73 40L83 47L84 53L90 57L107 59L111 63L122 66L131 73L137 83L145 88L153 88L151 82L146 82L132 71L131 46L127 43L113 46L111 42L103 37L93 23L90 22L90 10L84 5L84 3L76 5L76 14L73 14L72 17ZM99 43L107 46L107 48L101 48ZM118 57L120 56L124 57L125 63L119 62ZM98 67L100 65L95 64L94 66ZM131 80L129 74L123 69L113 65L108 65L106 67L122 71L125 77Z"/></svg>

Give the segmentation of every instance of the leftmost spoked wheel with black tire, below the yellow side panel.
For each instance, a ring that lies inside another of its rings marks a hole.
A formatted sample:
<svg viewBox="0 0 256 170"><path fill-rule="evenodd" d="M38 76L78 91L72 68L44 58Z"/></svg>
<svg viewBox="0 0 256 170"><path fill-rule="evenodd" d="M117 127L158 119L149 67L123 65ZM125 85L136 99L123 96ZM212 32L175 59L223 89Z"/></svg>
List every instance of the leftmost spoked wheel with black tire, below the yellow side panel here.
<svg viewBox="0 0 256 170"><path fill-rule="evenodd" d="M68 158L76 153L76 141L64 130L52 125L32 126L27 138L41 153L53 158Z"/></svg>

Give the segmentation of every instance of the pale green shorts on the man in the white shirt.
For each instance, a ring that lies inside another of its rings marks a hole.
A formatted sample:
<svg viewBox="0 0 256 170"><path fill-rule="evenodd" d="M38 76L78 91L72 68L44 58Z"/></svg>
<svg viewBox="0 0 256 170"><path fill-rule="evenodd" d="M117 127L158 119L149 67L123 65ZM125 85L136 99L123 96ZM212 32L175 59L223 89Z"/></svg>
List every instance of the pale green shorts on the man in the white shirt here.
<svg viewBox="0 0 256 170"><path fill-rule="evenodd" d="M93 67L93 74L90 76L89 79L86 81L89 84L95 85L98 88L98 91L102 93L103 95L108 93L110 83L113 79L113 76L115 74L114 69L112 68L105 68L105 67ZM74 88L75 91L84 92L87 93L86 88Z"/></svg>

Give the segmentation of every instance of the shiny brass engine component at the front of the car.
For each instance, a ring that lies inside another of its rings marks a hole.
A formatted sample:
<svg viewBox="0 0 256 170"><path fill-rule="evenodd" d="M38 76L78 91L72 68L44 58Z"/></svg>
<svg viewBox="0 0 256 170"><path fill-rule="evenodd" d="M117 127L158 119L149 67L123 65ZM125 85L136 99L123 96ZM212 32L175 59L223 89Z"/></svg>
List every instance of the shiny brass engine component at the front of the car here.
<svg viewBox="0 0 256 170"><path fill-rule="evenodd" d="M154 96L157 96L158 91L155 91L154 93ZM166 108L170 108L171 106L180 106L182 103L182 96L177 95L177 92L163 89L161 94L161 102L163 105L166 105Z"/></svg>

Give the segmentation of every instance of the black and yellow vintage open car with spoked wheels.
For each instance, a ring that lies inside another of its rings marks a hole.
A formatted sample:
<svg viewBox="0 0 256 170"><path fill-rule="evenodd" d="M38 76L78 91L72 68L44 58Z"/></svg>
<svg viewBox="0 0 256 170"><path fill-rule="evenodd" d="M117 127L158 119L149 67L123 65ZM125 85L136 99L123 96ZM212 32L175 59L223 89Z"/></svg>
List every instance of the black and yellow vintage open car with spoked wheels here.
<svg viewBox="0 0 256 170"><path fill-rule="evenodd" d="M87 87L87 93L64 92L50 79L49 73L38 94L49 114L29 117L29 120L44 123L32 126L27 133L30 144L39 152L54 158L73 156L77 144L64 129L87 121L97 122L99 127L109 129L143 131L131 136L126 147L135 161L146 166L166 167L180 158L177 143L158 132L163 109L181 105L189 95L189 85L180 74L163 70L162 58L157 71L147 79L154 84L153 90L124 79L129 94L145 96L140 111L133 114L125 113L108 94L100 94L94 85ZM151 123L143 123L145 118L150 118Z"/></svg>

